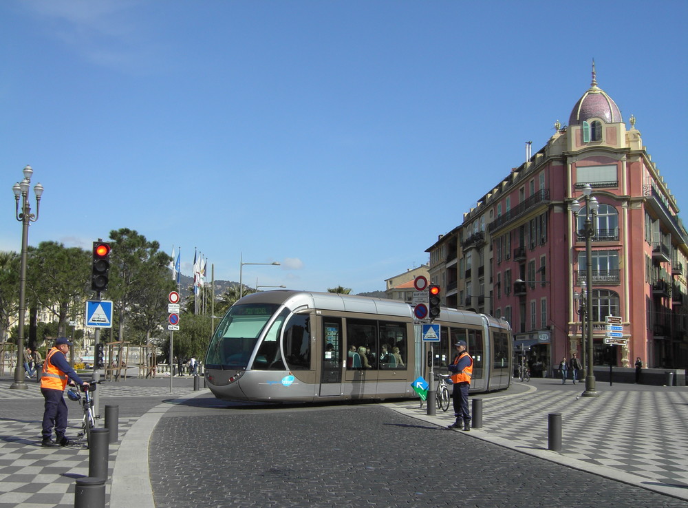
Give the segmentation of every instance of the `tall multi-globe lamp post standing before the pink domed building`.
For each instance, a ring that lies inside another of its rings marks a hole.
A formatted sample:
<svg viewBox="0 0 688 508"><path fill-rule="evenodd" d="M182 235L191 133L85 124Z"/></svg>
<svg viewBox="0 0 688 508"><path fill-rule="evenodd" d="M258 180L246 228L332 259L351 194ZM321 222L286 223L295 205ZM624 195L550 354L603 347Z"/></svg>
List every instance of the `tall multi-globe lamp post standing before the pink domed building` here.
<svg viewBox="0 0 688 508"><path fill-rule="evenodd" d="M594 348L592 343L592 238L596 233L595 219L599 203L597 202L597 198L591 194L592 187L590 184L585 184L583 187L582 199L585 203L585 222L583 223L583 234L585 235L585 279L588 282L587 286L585 287L587 290L587 294L585 296L585 317L588 318L588 322L585 326L585 331L588 335L588 361L586 363L588 375L585 376L585 392L581 394L581 396L584 397L596 397L599 395L599 393L597 393L595 390L595 375L592 370L592 363L594 363ZM576 215L576 218L578 218L578 214L581 211L582 206L583 205L580 201L574 201L571 203L571 210L573 211L574 215Z"/></svg>

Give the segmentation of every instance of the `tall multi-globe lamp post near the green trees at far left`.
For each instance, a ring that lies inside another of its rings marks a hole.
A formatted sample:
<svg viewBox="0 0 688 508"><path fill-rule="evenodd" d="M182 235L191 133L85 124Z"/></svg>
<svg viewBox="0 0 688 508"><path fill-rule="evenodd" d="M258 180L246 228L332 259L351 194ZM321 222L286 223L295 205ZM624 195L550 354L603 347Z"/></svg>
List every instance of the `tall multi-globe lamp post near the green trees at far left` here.
<svg viewBox="0 0 688 508"><path fill-rule="evenodd" d="M14 383L10 388L14 390L26 390L24 382L24 313L26 308L26 253L29 241L29 223L39 220L39 205L43 194L43 185L37 183L34 186L36 194L36 214L31 213L29 202L29 187L34 170L30 166L24 168L24 179L12 187L14 192L14 218L21 222L21 268L19 275L19 340L17 341L17 368L14 369ZM19 200L21 199L21 208Z"/></svg>

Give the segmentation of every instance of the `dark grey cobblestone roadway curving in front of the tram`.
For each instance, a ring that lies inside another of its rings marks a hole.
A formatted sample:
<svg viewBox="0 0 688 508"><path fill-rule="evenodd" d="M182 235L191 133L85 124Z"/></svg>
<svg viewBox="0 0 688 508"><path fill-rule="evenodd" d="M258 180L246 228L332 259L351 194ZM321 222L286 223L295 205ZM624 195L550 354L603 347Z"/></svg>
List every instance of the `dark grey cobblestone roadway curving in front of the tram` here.
<svg viewBox="0 0 688 508"><path fill-rule="evenodd" d="M153 433L158 508L686 506L383 405L200 412Z"/></svg>

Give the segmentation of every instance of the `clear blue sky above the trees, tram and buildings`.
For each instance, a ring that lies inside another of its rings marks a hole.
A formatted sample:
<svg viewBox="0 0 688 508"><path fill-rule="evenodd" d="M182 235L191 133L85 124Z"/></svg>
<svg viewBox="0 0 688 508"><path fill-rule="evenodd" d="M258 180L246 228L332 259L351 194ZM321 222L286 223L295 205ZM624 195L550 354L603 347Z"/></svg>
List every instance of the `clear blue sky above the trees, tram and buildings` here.
<svg viewBox="0 0 688 508"><path fill-rule="evenodd" d="M688 213L688 2L0 2L0 250L136 229L215 279L384 289L590 86ZM439 206L441 213L431 213Z"/></svg>

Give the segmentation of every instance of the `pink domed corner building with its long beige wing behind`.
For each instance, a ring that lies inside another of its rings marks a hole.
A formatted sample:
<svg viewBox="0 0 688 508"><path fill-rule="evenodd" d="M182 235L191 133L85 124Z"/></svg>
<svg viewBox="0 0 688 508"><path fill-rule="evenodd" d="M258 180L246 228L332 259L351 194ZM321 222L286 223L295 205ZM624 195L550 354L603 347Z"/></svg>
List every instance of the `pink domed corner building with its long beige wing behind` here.
<svg viewBox="0 0 688 508"><path fill-rule="evenodd" d="M641 133L596 82L575 103L568 126L464 213L462 224L427 249L444 303L510 322L531 368L552 372L561 357L585 357L576 293L592 284L594 364L688 367L685 309L688 235L667 182ZM576 215L585 185L593 216L592 281ZM626 345L605 343L608 315L622 318Z"/></svg>

